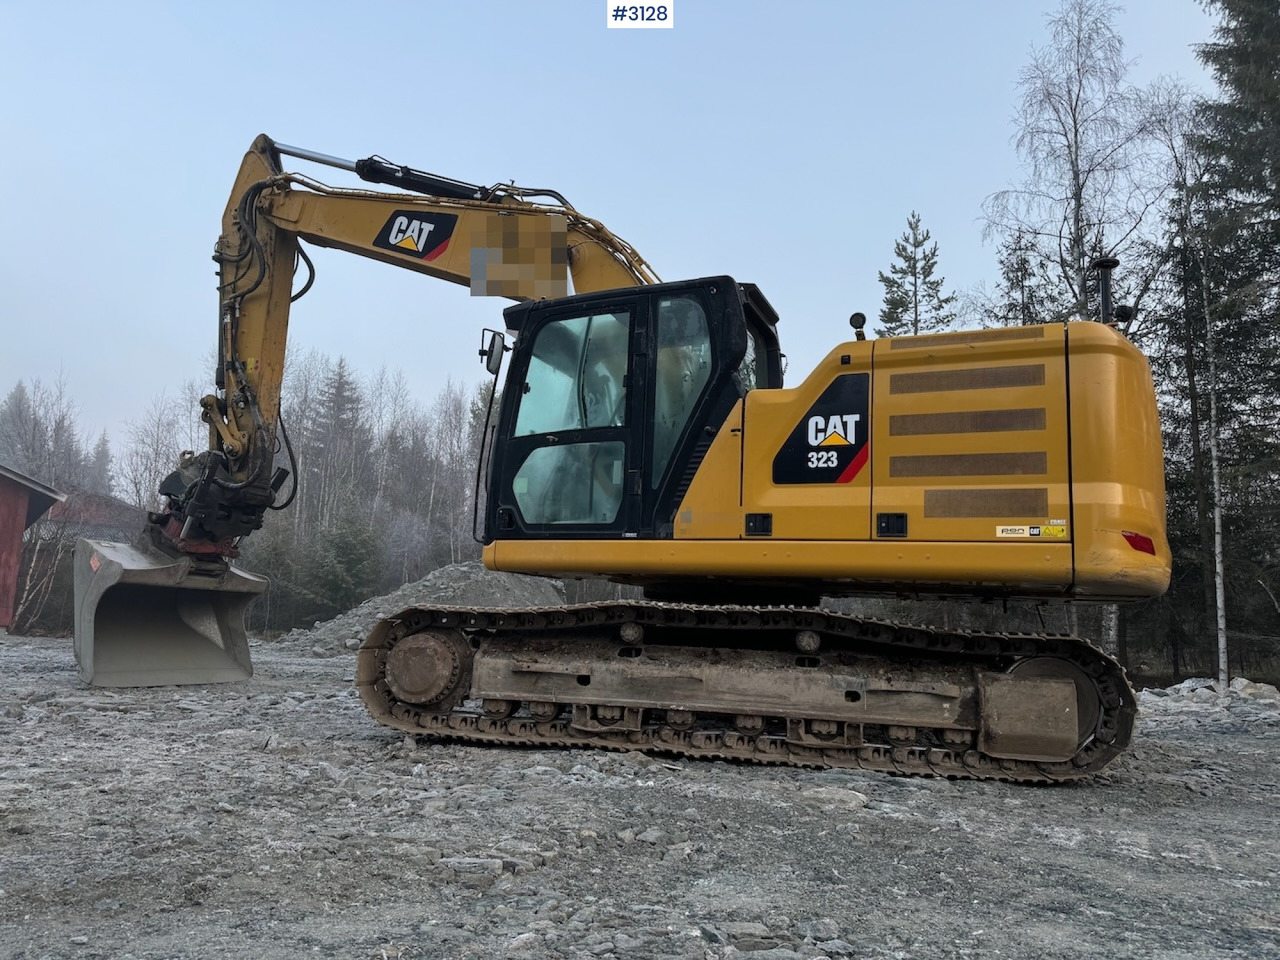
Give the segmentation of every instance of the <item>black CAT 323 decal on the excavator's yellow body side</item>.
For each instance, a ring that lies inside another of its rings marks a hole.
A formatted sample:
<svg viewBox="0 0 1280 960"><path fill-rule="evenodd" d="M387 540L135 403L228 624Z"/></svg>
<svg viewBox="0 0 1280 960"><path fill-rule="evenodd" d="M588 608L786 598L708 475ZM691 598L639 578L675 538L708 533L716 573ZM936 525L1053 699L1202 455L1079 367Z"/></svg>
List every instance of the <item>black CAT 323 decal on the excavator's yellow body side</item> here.
<svg viewBox="0 0 1280 960"><path fill-rule="evenodd" d="M773 458L776 484L847 484L864 466L868 374L837 376Z"/></svg>

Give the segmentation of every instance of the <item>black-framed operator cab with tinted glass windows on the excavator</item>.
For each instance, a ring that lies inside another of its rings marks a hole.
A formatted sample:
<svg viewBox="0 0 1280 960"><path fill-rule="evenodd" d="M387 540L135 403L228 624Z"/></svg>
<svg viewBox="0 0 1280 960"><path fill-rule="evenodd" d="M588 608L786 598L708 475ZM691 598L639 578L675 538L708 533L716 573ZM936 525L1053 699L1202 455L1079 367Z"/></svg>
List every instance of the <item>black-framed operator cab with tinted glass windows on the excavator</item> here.
<svg viewBox="0 0 1280 960"><path fill-rule="evenodd" d="M516 346L485 540L669 538L733 406L782 385L777 314L728 276L504 311Z"/></svg>

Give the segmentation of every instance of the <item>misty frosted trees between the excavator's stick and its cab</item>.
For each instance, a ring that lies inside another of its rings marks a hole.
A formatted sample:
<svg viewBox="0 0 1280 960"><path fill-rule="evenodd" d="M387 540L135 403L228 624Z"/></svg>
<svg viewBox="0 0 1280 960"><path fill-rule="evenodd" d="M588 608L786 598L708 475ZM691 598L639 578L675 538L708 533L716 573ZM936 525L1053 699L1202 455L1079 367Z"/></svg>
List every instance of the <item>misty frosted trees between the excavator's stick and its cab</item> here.
<svg viewBox="0 0 1280 960"><path fill-rule="evenodd" d="M319 353L289 369L283 420L297 489L244 541L243 566L273 582L252 625L310 626L477 559L472 492L490 388L451 380L422 406L399 371L361 381Z"/></svg>

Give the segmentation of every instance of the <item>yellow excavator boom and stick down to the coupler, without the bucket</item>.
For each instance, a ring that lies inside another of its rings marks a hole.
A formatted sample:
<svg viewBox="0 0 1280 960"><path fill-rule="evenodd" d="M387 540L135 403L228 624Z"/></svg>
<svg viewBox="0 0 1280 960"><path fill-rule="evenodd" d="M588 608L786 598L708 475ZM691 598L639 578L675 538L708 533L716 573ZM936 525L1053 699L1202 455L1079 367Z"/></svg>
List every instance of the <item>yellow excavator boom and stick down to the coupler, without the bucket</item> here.
<svg viewBox="0 0 1280 960"><path fill-rule="evenodd" d="M404 191L343 189L284 173L282 155L348 169ZM214 259L219 264L215 394L201 399L209 449L186 453L154 520L180 553L236 556L288 471L274 467L298 241L380 260L477 296L541 300L654 283L644 259L554 191L479 187L370 157L344 161L260 136L244 155ZM566 276L567 275L567 276ZM310 278L306 282L310 285Z"/></svg>

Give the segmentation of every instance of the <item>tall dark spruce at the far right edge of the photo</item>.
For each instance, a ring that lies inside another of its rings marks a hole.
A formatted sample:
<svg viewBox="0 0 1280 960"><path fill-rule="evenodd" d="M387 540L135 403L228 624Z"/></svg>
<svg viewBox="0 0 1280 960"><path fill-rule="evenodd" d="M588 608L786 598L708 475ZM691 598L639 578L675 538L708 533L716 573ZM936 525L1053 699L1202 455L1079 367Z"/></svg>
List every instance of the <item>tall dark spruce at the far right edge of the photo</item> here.
<svg viewBox="0 0 1280 960"><path fill-rule="evenodd" d="M1194 143L1203 177L1192 196L1203 218L1193 268L1199 271L1206 339L1217 360L1211 451L1221 461L1224 545L1219 631L1274 636L1280 614L1280 5L1212 0L1221 20L1198 49L1220 96L1202 104ZM1216 428L1216 429L1213 429ZM1212 445L1212 444L1216 444ZM1243 575L1243 576L1242 576ZM1268 585L1270 584L1270 585ZM1254 585L1261 590L1256 590ZM1251 603L1252 602L1252 603ZM1249 608L1263 612L1252 620ZM1252 630L1251 630L1252 628ZM1225 648L1225 643L1221 644ZM1265 655L1275 655L1272 640ZM1242 650L1233 653L1236 667ZM1243 659L1248 659L1245 655ZM1228 673L1220 660L1220 678Z"/></svg>

